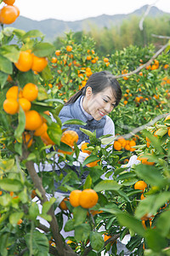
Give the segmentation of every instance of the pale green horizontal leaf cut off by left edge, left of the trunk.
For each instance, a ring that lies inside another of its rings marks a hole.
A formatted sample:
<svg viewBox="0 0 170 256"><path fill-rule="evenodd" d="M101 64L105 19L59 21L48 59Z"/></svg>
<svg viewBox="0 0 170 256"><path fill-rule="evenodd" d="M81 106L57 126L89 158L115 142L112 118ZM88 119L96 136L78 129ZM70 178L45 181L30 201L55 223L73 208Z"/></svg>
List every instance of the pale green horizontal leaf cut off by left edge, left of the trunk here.
<svg viewBox="0 0 170 256"><path fill-rule="evenodd" d="M7 191L20 191L23 189L22 183L18 179L9 179L7 177L4 177L0 180L0 188L7 190Z"/></svg>

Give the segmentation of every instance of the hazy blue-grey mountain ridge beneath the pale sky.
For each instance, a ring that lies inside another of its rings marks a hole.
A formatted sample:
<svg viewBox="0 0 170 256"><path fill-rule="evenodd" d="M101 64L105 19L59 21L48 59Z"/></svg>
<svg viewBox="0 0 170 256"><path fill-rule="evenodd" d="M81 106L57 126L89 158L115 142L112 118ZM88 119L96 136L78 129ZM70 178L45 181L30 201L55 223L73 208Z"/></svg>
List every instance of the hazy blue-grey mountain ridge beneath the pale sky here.
<svg viewBox="0 0 170 256"><path fill-rule="evenodd" d="M98 26L99 28L118 26L122 23L123 20L128 20L133 15L144 15L147 7L148 5L144 5L142 8L136 9L133 13L130 13L128 15L99 15L97 17L91 17L77 21L64 21L55 19L37 21L28 19L20 15L11 26L22 29L26 32L32 29L37 29L45 35L46 40L53 41L54 38L64 35L64 32L79 32L83 30L89 31L90 26ZM161 15L170 14L163 12L160 9L157 9L155 6L152 6L150 8L148 16L155 18Z"/></svg>

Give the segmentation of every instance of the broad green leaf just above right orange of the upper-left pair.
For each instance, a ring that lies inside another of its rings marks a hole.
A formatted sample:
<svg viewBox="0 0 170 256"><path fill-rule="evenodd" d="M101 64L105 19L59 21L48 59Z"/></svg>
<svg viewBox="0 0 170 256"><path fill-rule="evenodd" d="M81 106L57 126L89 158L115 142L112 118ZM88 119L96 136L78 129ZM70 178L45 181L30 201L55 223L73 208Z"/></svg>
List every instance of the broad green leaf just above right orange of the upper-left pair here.
<svg viewBox="0 0 170 256"><path fill-rule="evenodd" d="M39 43L33 49L32 52L37 57L45 57L54 53L54 45L50 43Z"/></svg>

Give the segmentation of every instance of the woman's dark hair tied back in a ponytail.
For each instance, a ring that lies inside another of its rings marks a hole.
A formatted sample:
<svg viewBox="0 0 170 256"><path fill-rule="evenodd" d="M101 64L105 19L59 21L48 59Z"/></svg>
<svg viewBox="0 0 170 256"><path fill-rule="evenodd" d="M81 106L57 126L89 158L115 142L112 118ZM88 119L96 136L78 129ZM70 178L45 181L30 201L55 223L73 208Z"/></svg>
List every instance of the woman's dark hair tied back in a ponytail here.
<svg viewBox="0 0 170 256"><path fill-rule="evenodd" d="M68 102L65 103L65 105L69 105L71 103L74 103L77 101L77 98L79 96L85 96L86 95L86 89L90 86L92 88L92 93L95 95L107 87L111 87L113 91L113 95L116 97L116 104L115 107L119 104L119 102L122 99L122 90L118 83L118 81L114 78L113 74L108 71L101 71L97 73L93 73L86 85L82 87L81 90L77 91L71 98L68 100Z"/></svg>

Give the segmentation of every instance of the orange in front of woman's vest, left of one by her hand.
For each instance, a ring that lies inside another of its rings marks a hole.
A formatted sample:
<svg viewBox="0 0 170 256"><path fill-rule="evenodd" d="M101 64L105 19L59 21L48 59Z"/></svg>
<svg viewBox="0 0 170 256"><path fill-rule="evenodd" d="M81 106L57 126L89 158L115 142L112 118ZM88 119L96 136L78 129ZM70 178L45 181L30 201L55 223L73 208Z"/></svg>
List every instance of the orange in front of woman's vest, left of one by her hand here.
<svg viewBox="0 0 170 256"><path fill-rule="evenodd" d="M70 147L74 146L74 143L78 141L77 131L64 131L61 137L61 142L69 145Z"/></svg>

